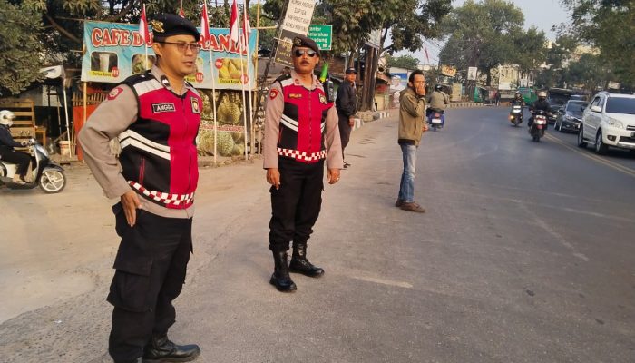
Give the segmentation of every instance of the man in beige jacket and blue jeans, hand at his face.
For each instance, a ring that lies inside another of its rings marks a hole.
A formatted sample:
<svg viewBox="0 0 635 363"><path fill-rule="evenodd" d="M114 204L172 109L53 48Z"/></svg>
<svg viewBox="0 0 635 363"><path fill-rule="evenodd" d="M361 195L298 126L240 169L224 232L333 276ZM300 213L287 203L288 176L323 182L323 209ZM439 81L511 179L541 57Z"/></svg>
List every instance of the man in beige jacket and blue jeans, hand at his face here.
<svg viewBox="0 0 635 363"><path fill-rule="evenodd" d="M416 152L421 136L428 127L425 123L425 77L416 70L408 77L408 88L399 99L399 146L404 157L404 172L401 175L396 207L404 211L423 213L415 202Z"/></svg>

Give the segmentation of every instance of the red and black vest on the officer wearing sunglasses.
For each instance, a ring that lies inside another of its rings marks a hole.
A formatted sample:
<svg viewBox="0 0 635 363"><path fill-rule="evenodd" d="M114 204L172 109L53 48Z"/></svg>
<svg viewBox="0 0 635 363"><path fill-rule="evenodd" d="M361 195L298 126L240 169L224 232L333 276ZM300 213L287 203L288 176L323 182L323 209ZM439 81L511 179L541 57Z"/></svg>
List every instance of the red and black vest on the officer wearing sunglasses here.
<svg viewBox="0 0 635 363"><path fill-rule="evenodd" d="M291 75L279 77L284 95L284 111L280 120L278 155L298 162L315 163L327 157L324 130L328 110L322 84L316 78L316 87L308 90Z"/></svg>

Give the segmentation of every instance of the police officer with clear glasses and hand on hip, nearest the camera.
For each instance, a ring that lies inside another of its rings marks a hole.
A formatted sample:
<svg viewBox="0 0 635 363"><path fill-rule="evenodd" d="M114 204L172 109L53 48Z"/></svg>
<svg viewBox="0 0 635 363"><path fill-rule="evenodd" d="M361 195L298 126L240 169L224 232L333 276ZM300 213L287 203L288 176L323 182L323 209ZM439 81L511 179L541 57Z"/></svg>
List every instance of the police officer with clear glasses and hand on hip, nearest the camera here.
<svg viewBox="0 0 635 363"><path fill-rule="evenodd" d="M185 362L200 354L167 335L192 250L202 102L184 77L196 71L200 34L178 15L158 15L151 25L157 64L112 89L79 135L106 197L120 199L112 211L122 241L108 295L115 362ZM122 172L109 152L115 137Z"/></svg>

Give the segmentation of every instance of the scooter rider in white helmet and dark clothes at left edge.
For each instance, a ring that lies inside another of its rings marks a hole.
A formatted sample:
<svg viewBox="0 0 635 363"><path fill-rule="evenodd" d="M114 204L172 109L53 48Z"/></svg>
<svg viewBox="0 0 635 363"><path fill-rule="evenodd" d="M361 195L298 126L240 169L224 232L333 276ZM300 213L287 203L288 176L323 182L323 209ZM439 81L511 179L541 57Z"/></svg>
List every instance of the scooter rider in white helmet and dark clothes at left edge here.
<svg viewBox="0 0 635 363"><path fill-rule="evenodd" d="M29 142L16 142L9 132L9 128L14 124L15 113L8 110L0 111L0 159L5 162L17 164L17 170L13 182L24 185L26 172L29 170L31 156L24 152L15 152L15 147L27 146Z"/></svg>

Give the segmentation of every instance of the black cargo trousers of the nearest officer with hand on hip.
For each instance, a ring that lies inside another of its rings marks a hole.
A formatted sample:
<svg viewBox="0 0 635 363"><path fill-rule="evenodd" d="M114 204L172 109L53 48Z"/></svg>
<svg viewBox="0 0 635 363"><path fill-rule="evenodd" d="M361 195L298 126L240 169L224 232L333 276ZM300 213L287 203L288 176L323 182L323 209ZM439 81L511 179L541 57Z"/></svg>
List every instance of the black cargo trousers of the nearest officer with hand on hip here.
<svg viewBox="0 0 635 363"><path fill-rule="evenodd" d="M164 218L138 210L128 225L121 203L112 207L122 238L114 260L108 301L112 329L108 351L115 362L139 358L152 335L167 334L192 250L191 219Z"/></svg>

